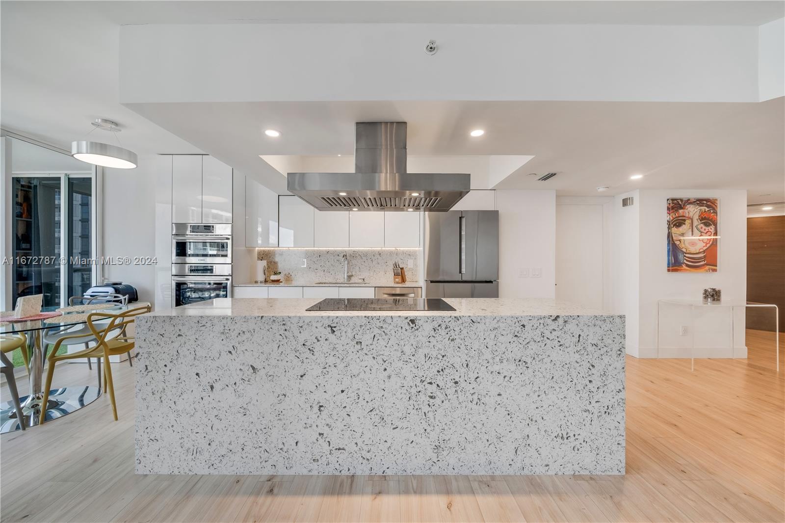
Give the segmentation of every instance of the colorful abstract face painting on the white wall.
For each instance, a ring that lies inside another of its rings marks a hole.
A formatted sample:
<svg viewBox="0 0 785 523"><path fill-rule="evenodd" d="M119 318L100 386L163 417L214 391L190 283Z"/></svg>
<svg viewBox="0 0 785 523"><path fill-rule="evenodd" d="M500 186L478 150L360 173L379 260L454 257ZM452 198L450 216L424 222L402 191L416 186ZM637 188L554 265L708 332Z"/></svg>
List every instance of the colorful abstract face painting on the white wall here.
<svg viewBox="0 0 785 523"><path fill-rule="evenodd" d="M668 272L717 272L717 199L668 199Z"/></svg>

